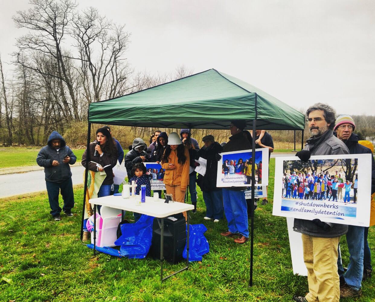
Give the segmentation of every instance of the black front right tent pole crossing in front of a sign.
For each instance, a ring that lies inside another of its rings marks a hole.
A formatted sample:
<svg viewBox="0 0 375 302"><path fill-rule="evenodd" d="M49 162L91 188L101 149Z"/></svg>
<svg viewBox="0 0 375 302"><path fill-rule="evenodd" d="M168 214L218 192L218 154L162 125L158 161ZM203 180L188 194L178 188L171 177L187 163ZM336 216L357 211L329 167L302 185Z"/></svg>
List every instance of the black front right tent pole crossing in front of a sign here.
<svg viewBox="0 0 375 302"><path fill-rule="evenodd" d="M254 254L254 202L255 202L255 138L257 136L257 120L253 120L253 131L252 131L252 165L251 165L251 235L250 235L250 280L249 286L253 286L253 254Z"/></svg>

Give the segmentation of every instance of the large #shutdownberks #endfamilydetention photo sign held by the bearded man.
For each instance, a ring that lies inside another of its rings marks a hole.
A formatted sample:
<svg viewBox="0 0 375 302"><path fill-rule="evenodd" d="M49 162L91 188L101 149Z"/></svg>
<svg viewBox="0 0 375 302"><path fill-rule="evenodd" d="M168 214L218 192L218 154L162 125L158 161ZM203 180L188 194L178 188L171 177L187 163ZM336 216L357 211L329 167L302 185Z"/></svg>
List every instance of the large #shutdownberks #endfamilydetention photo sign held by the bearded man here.
<svg viewBox="0 0 375 302"><path fill-rule="evenodd" d="M273 215L368 227L371 154L277 157Z"/></svg>

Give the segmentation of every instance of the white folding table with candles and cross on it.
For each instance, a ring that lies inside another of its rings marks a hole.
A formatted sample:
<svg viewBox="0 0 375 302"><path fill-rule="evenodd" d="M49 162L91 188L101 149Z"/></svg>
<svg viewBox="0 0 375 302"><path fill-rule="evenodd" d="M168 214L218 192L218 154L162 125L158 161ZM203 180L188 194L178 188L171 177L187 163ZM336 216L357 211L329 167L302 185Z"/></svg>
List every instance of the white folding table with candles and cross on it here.
<svg viewBox="0 0 375 302"><path fill-rule="evenodd" d="M140 214L146 214L148 216L156 217L160 219L161 234L160 234L160 281L164 281L181 272L189 269L189 211L194 209L192 204L184 204L182 202L171 202L165 203L165 199L154 200L153 197L146 196L146 202L141 205L136 205L135 198L124 199L122 196L105 196L99 198L90 199L90 204L94 205L94 230L96 230L96 205L105 205L106 207L116 208L125 211L132 211ZM163 260L164 260L164 218L174 214L182 213L187 211L187 244L186 244L186 267L178 270L177 272L163 278ZM96 253L96 232L94 231L94 255Z"/></svg>

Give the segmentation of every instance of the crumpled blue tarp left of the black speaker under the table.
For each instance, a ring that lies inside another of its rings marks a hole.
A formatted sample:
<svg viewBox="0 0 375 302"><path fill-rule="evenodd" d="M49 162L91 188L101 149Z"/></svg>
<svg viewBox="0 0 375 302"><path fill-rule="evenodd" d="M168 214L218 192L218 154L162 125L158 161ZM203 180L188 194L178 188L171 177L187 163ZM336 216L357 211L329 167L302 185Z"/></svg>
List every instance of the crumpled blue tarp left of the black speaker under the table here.
<svg viewBox="0 0 375 302"><path fill-rule="evenodd" d="M152 223L154 217L142 215L136 223L120 225L122 235L115 241L120 245L120 255L128 258L143 259L151 246Z"/></svg>

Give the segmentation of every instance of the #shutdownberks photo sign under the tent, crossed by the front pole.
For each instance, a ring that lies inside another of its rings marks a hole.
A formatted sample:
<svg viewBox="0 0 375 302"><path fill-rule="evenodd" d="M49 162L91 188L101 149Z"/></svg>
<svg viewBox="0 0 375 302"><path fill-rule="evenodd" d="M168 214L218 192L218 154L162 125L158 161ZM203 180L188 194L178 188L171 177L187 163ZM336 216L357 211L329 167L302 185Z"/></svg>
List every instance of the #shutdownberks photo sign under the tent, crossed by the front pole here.
<svg viewBox="0 0 375 302"><path fill-rule="evenodd" d="M255 184L268 185L268 148L255 151ZM217 187L251 186L252 151L242 150L220 153L217 164Z"/></svg>

